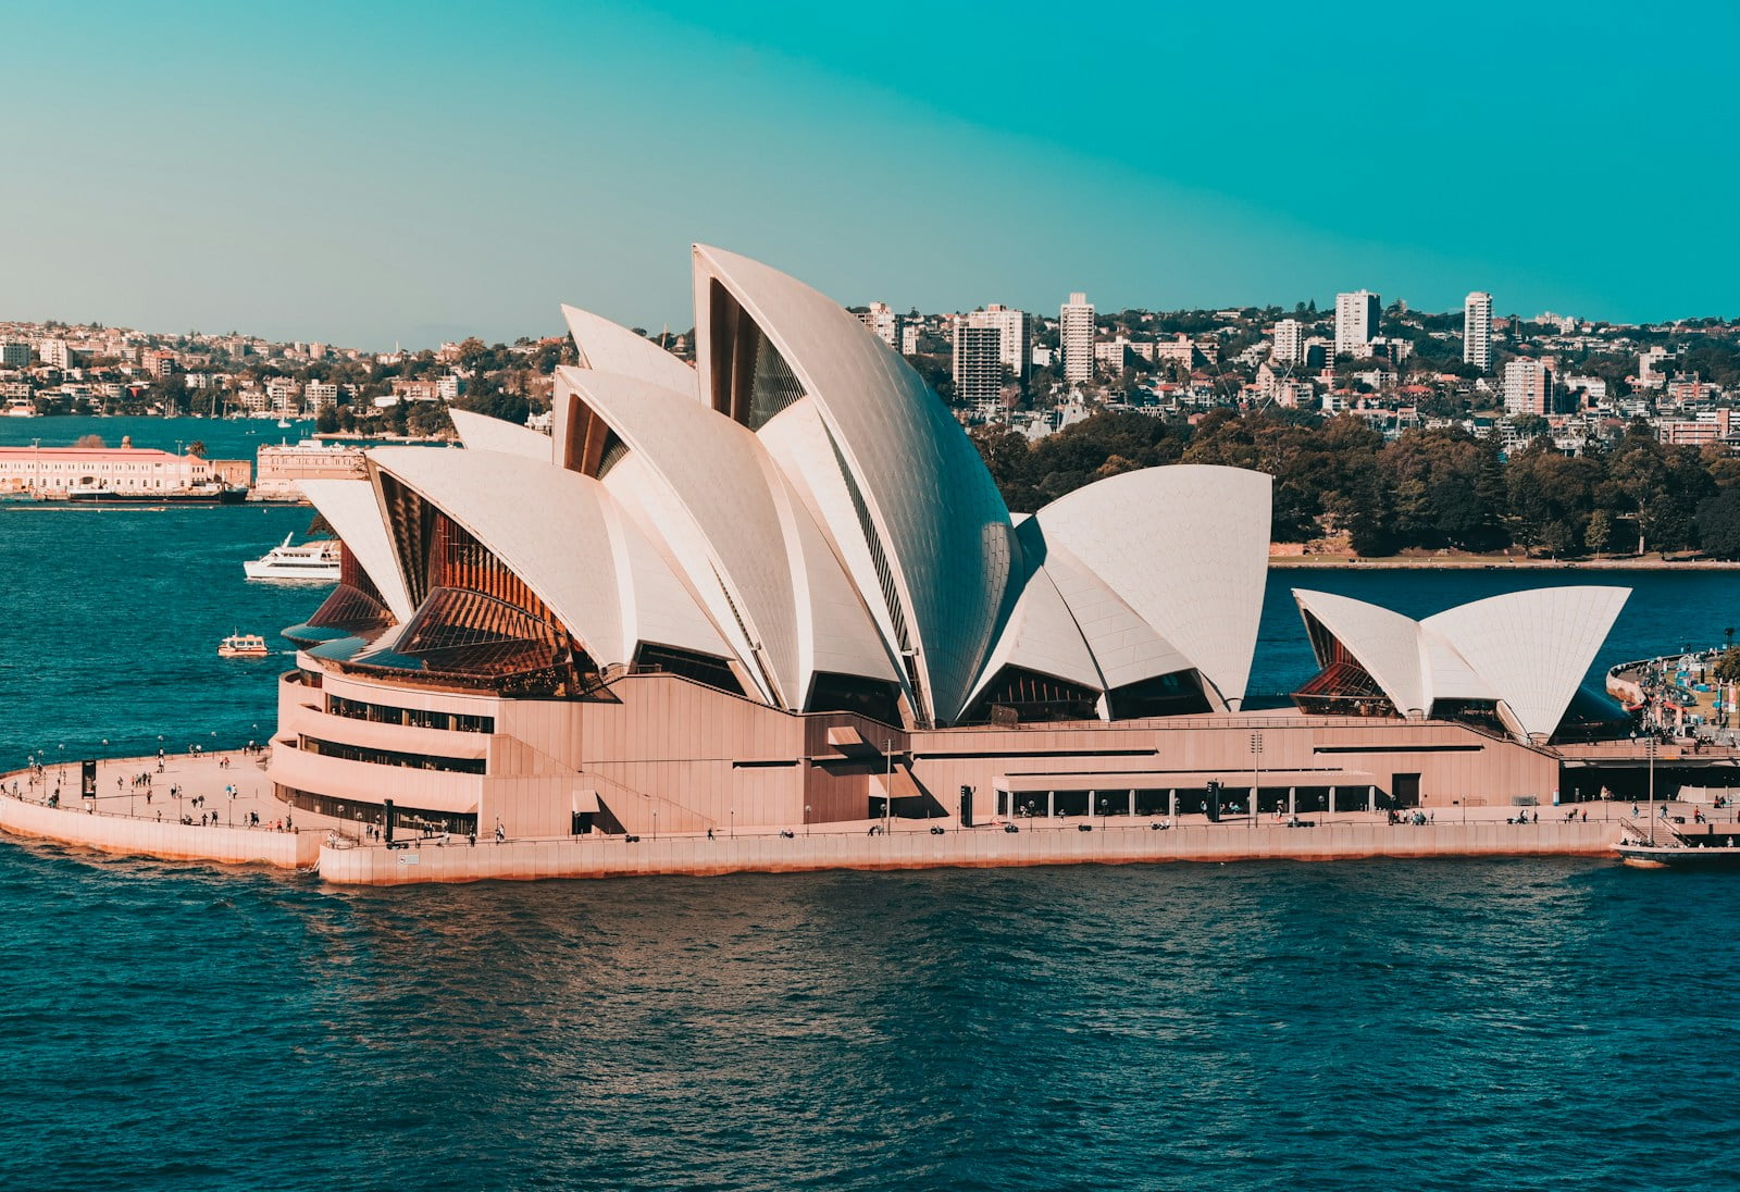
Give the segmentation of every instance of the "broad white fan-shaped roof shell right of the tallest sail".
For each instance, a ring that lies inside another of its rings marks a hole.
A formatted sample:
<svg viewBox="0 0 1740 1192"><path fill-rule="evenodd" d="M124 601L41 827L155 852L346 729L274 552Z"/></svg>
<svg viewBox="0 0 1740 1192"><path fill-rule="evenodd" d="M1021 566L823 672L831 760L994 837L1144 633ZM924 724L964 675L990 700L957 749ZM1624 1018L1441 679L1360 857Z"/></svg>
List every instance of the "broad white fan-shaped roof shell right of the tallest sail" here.
<svg viewBox="0 0 1740 1192"><path fill-rule="evenodd" d="M1270 487L1244 468L1143 468L1058 498L1034 520L1047 552L1068 552L1237 705L1263 614Z"/></svg>

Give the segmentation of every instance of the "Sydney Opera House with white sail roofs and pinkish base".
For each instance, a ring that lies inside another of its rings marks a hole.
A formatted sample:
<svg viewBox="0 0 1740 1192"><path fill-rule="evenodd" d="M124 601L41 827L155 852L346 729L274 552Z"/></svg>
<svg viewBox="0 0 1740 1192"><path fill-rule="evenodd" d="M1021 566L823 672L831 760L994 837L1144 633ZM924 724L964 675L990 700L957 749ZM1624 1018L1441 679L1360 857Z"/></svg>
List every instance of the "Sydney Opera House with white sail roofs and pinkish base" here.
<svg viewBox="0 0 1740 1192"><path fill-rule="evenodd" d="M1270 479L1168 466L1011 515L917 372L696 247L696 365L566 310L553 433L454 411L306 486L343 581L285 630L278 797L506 837L887 816L1547 802L1625 592L1425 621L1298 592L1321 672L1246 708ZM1569 792L1568 792L1569 794Z"/></svg>

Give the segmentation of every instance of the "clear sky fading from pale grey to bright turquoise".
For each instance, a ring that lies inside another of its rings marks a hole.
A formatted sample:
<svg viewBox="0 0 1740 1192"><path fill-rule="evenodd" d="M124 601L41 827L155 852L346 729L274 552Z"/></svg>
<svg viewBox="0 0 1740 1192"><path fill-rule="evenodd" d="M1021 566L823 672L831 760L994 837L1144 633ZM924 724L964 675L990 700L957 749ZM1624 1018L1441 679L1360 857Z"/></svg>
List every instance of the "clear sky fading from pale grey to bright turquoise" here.
<svg viewBox="0 0 1740 1192"><path fill-rule="evenodd" d="M348 346L842 303L1740 315L1740 3L10 5L0 318Z"/></svg>

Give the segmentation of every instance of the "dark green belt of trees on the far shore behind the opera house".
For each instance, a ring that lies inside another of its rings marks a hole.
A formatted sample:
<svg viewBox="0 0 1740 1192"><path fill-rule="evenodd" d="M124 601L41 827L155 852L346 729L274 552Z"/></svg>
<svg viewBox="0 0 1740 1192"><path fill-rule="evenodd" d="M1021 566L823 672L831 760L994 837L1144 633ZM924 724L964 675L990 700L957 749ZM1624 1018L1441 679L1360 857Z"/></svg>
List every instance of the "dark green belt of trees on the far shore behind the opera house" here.
<svg viewBox="0 0 1740 1192"><path fill-rule="evenodd" d="M1415 428L1387 442L1364 419L1213 409L1195 426L1101 411L1028 442L978 428L978 445L1013 512L1030 513L1086 484L1166 463L1255 468L1274 477L1275 541L1347 532L1359 555L1401 550L1554 557L1703 546L1740 559L1740 466L1719 451L1665 447L1643 423L1610 451L1566 454L1552 439L1509 459L1496 437Z"/></svg>

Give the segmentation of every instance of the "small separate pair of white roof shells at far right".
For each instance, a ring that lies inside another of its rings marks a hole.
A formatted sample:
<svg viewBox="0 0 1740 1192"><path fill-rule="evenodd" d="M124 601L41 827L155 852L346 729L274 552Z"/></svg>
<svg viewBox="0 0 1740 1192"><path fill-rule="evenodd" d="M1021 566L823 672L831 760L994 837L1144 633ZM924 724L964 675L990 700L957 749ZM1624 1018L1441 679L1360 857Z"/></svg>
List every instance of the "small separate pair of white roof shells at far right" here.
<svg viewBox="0 0 1740 1192"><path fill-rule="evenodd" d="M1516 731L1542 738L1559 727L1629 595L1589 585L1533 588L1415 621L1352 597L1293 593L1399 712L1430 713L1439 700L1493 700Z"/></svg>

